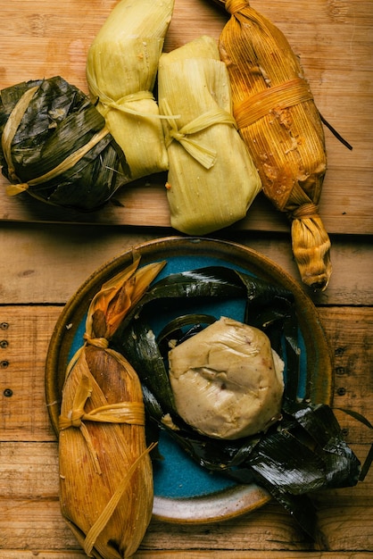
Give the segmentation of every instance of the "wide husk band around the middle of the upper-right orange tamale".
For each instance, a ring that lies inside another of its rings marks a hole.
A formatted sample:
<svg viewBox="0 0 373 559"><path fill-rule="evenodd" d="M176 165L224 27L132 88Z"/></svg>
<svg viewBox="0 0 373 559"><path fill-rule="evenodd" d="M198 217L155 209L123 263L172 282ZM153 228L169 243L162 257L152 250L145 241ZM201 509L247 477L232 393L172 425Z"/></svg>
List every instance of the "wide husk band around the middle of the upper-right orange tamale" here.
<svg viewBox="0 0 373 559"><path fill-rule="evenodd" d="M295 104L311 101L308 82L305 79L291 79L286 83L264 89L254 96L248 96L234 108L238 128L242 129L259 121L275 109L285 109Z"/></svg>

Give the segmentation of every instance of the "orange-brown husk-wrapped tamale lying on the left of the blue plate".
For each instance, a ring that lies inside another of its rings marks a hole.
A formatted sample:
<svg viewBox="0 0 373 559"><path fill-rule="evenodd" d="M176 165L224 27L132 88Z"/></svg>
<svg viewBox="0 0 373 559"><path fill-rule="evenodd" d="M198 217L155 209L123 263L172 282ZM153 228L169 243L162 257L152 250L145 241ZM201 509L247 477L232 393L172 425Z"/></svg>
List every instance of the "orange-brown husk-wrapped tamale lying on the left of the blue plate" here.
<svg viewBox="0 0 373 559"><path fill-rule="evenodd" d="M87 313L85 344L62 389L62 514L88 556L131 557L153 510L153 472L136 371L109 340L164 263L139 259L104 284Z"/></svg>

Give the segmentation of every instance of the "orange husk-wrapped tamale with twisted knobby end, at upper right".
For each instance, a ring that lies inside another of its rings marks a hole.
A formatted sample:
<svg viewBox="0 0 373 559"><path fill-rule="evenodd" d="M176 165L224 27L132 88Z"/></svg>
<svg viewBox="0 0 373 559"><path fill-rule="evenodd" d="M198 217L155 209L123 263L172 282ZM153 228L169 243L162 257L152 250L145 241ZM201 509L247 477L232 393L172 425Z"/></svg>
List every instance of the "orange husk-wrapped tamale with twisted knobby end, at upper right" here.
<svg viewBox="0 0 373 559"><path fill-rule="evenodd" d="M327 288L330 240L319 217L327 157L318 109L283 33L247 0L219 0L230 19L220 35L233 113L269 200L292 221L302 280Z"/></svg>

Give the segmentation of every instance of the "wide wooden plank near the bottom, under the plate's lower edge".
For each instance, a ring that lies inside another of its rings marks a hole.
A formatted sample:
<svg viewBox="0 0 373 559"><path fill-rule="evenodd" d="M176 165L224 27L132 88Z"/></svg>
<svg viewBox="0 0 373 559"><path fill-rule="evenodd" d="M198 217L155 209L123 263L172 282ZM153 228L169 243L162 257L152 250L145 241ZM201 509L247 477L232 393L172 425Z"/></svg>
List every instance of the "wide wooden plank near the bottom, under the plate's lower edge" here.
<svg viewBox="0 0 373 559"><path fill-rule="evenodd" d="M8 455L2 454L2 473L11 475L12 467L22 471L17 487L12 481L11 496L1 496L0 548L76 550L79 546L62 519L58 503L57 448L42 443L9 443ZM27 448L26 448L27 447ZM359 448L357 448L359 451ZM34 457L37 456L37 458ZM46 467L40 462L47 461ZM50 474L52 458L54 475ZM28 463L29 459L29 463ZM44 475L45 474L45 475ZM2 475L2 477L4 474ZM325 533L330 551L370 550L373 537L373 510L369 499L373 479L364 481L365 491L344 488L316 496L319 528ZM1 489L3 493L2 482ZM12 494L13 488L13 494ZM152 520L141 549L149 551L185 550L312 550L314 547L299 533L293 519L276 503L232 521L208 525L177 525ZM0 555L1 557L1 555Z"/></svg>

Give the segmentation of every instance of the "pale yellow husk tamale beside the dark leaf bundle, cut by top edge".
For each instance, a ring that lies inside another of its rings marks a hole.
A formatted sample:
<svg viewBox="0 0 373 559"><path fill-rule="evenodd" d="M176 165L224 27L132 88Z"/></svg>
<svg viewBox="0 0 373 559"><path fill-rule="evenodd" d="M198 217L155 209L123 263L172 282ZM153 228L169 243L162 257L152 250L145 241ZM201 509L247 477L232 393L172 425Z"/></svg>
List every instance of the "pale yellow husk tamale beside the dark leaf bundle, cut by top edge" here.
<svg viewBox="0 0 373 559"><path fill-rule="evenodd" d="M132 179L168 169L153 88L174 0L121 0L87 54L87 84Z"/></svg>

